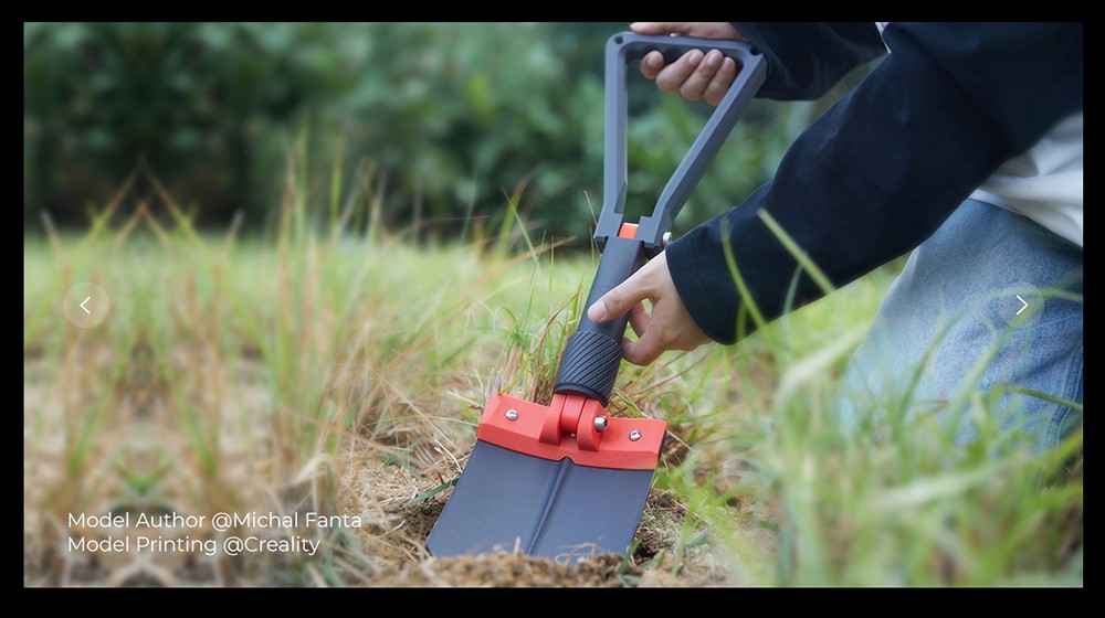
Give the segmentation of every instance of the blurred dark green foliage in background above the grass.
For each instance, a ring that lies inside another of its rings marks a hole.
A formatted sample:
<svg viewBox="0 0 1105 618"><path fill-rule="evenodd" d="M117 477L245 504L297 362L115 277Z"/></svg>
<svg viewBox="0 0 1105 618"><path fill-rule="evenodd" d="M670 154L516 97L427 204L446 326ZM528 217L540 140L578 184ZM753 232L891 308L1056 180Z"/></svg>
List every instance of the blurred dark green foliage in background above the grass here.
<svg viewBox="0 0 1105 618"><path fill-rule="evenodd" d="M602 49L627 28L25 23L24 227L42 210L85 224L145 161L207 225L239 211L249 227L272 223L291 169L320 223L377 196L391 228L418 217L448 236L496 225L524 185L538 237L586 236L601 207ZM640 214L712 108L640 77L630 87L628 212ZM677 227L767 180L807 116L755 103Z"/></svg>

